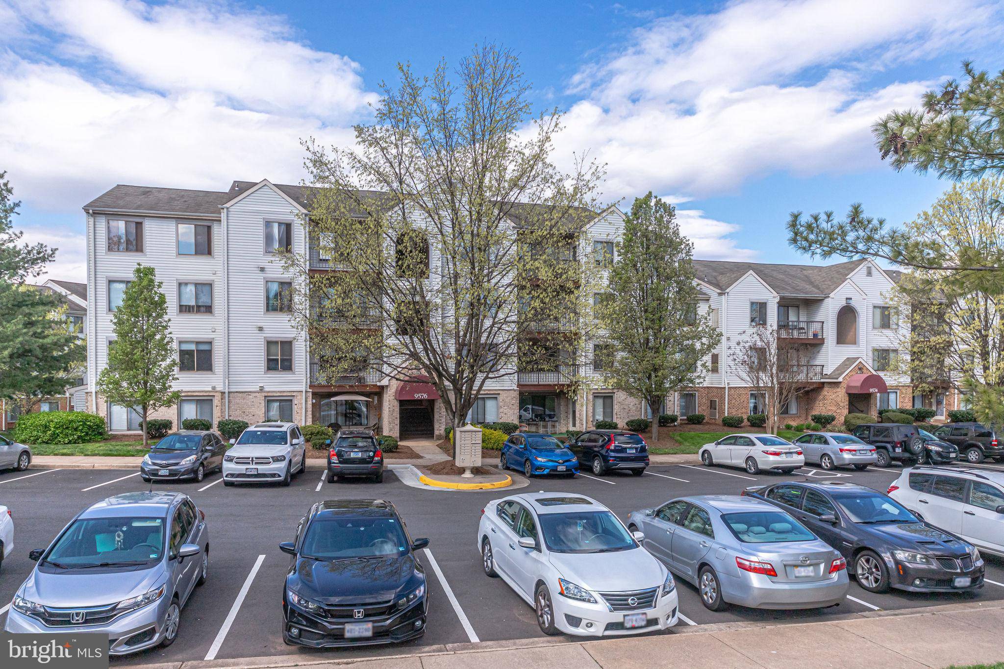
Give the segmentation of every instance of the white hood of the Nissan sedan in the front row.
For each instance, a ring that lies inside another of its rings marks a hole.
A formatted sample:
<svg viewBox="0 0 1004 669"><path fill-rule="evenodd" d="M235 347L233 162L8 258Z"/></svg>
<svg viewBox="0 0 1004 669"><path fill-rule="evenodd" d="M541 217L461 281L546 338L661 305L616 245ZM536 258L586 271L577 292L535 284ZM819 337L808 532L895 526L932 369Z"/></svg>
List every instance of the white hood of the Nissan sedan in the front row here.
<svg viewBox="0 0 1004 669"><path fill-rule="evenodd" d="M645 590L666 581L666 568L643 548L612 553L551 553L550 562L561 578L586 590Z"/></svg>

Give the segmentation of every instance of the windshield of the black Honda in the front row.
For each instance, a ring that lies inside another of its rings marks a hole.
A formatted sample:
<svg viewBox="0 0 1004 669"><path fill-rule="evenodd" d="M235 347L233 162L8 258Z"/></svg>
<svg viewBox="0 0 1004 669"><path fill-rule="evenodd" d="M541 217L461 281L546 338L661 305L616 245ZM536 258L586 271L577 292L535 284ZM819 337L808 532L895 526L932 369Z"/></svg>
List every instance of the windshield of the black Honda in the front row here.
<svg viewBox="0 0 1004 669"><path fill-rule="evenodd" d="M397 558L408 553L408 540L393 518L314 519L300 554L314 560Z"/></svg>

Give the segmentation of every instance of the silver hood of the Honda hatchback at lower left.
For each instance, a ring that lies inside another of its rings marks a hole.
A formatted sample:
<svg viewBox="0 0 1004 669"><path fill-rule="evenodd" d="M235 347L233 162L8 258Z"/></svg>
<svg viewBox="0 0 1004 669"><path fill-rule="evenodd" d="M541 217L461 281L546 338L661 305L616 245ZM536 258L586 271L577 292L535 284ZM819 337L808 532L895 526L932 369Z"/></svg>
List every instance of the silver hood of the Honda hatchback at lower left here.
<svg viewBox="0 0 1004 669"><path fill-rule="evenodd" d="M115 604L152 590L163 579L160 565L139 571L93 570L49 574L32 570L21 586L21 597L54 608Z"/></svg>

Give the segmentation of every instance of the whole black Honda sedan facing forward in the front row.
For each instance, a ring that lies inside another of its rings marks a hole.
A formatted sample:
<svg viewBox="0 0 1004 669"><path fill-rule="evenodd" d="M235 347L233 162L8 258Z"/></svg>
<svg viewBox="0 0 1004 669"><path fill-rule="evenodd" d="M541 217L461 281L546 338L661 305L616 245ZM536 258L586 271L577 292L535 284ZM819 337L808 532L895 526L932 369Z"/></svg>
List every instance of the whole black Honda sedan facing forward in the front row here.
<svg viewBox="0 0 1004 669"><path fill-rule="evenodd" d="M287 644L335 648L409 641L426 631L426 574L390 501L318 501L300 521L282 591Z"/></svg>

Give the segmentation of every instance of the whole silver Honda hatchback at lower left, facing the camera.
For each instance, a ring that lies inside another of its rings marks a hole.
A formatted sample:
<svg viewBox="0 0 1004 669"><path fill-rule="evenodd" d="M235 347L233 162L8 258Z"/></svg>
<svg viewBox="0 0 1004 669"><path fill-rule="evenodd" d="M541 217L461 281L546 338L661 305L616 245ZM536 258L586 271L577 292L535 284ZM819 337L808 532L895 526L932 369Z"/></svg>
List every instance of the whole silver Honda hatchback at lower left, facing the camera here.
<svg viewBox="0 0 1004 669"><path fill-rule="evenodd" d="M181 610L209 569L205 515L188 495L128 492L88 507L18 588L7 632L104 632L111 655L178 638Z"/></svg>

